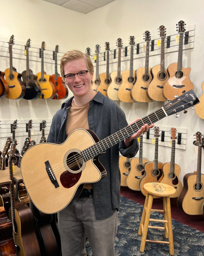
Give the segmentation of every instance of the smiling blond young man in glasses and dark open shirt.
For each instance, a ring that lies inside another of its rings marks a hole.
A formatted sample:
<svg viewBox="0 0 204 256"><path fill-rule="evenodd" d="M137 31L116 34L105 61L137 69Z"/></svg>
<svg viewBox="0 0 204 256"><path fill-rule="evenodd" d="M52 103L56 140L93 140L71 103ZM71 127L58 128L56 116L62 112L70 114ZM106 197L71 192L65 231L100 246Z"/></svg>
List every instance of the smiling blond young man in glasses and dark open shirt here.
<svg viewBox="0 0 204 256"><path fill-rule="evenodd" d="M73 97L54 115L48 142L62 143L78 128L92 130L102 140L127 126L121 108L91 88L94 70L88 55L70 50L62 57L60 69ZM152 127L145 124L101 154L99 160L106 169L106 177L95 183L87 181L78 199L58 213L63 256L85 256L86 236L94 256L115 255L120 204L119 151L128 158L134 157L139 149L137 138Z"/></svg>

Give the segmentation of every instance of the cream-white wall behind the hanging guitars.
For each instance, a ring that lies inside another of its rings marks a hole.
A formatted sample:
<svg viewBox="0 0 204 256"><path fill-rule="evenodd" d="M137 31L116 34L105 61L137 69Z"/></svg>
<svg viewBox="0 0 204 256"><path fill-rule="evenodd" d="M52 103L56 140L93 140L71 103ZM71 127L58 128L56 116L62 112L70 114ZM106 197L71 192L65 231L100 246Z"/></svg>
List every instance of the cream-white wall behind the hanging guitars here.
<svg viewBox="0 0 204 256"><path fill-rule="evenodd" d="M58 44L60 52L63 53L71 48L78 48L85 51L86 47L91 48L91 54L95 52L95 45L101 46L101 52L104 52L104 43L109 42L110 48L116 49L116 40L121 37L123 45L127 46L129 37L134 36L135 41L142 42L143 33L149 30L152 39L158 38L158 28L160 25L166 27L167 35L176 33L176 23L184 20L186 30L195 25L195 38L193 49L184 50L183 66L191 67L189 75L193 82L194 91L199 97L202 95L201 83L204 81L204 35L203 35L203 12L204 3L202 0L186 1L172 0L115 0L98 10L86 15L77 13L57 5L42 0L0 0L4 12L0 16L1 32L0 40L8 42L12 34L15 35L15 43L24 45L28 38L32 40L33 47L41 46L41 42L46 42L47 50L54 50ZM60 54L61 54L60 53ZM59 54L59 55L60 55ZM8 54L1 54L0 70L4 71L9 67ZM140 55L142 56L142 55ZM20 58L20 59L19 59ZM26 69L25 58L16 57L13 60L13 66L20 73ZM177 62L178 52L171 52L165 55L165 67L167 68L173 62ZM45 63L47 74L54 73L54 67L51 63ZM53 62L54 63L54 62ZM152 67L160 63L160 56L150 56L149 66ZM129 62L122 62L122 70L129 69ZM144 58L135 58L134 69L144 66ZM40 70L40 60L30 63L30 68L34 73ZM100 65L100 73L105 72L105 65ZM116 63L110 66L110 71L116 70ZM69 92L69 96L71 93ZM63 100L34 100L26 101L0 99L0 129L9 127L5 123L13 123L18 120L18 129L22 127L22 122L28 122L32 119L33 126L38 126L42 120L51 121L52 116L60 108ZM137 117L143 117L148 113L160 108L164 103L119 103L125 111L127 120L130 122ZM49 126L48 123L47 126ZM181 166L180 180L186 173L196 171L197 169L197 147L193 145L194 134L197 131L204 133L204 120L199 118L195 111L188 109L185 115L180 113L180 118L169 116L156 124L157 126L168 126L175 128L187 128L186 150L176 150L175 162ZM38 129L38 128L34 128ZM8 136L11 136L10 130L0 130L0 149ZM7 131L7 132L5 132ZM17 133L18 150L26 133ZM47 127L46 134L49 132ZM20 136L23 135L23 136ZM40 133L35 131L32 139L39 141ZM158 160L161 162L170 161L170 147L161 146L159 148ZM202 154L203 155L203 154ZM144 145L143 156L150 161L154 159L154 146ZM204 169L204 160L202 159L202 170ZM204 171L202 171L204 173Z"/></svg>

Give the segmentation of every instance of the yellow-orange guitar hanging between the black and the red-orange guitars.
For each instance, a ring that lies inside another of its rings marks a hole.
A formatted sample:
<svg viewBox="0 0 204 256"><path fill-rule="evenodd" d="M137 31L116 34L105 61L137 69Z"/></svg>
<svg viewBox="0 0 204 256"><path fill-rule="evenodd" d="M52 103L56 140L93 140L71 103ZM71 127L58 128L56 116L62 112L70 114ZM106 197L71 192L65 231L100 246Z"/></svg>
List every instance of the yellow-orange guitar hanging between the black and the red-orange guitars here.
<svg viewBox="0 0 204 256"><path fill-rule="evenodd" d="M44 71L44 50L45 42L42 42L40 53L41 53L41 72L38 72L38 84L41 87L41 96L40 99L49 99L53 98L55 95L55 86L52 83L52 78L50 75L47 75Z"/></svg>

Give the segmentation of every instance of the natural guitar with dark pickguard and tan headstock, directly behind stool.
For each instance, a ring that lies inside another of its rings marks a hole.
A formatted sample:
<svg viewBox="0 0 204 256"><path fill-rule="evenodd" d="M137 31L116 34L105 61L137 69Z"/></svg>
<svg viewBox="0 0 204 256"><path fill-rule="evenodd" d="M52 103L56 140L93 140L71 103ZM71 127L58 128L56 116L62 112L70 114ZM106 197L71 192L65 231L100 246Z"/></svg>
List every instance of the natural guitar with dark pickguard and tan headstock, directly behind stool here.
<svg viewBox="0 0 204 256"><path fill-rule="evenodd" d="M176 193L170 198L176 198L181 194L183 185L179 180L181 167L175 163L176 128L171 128L171 161L162 165L163 177L158 182L173 186Z"/></svg>

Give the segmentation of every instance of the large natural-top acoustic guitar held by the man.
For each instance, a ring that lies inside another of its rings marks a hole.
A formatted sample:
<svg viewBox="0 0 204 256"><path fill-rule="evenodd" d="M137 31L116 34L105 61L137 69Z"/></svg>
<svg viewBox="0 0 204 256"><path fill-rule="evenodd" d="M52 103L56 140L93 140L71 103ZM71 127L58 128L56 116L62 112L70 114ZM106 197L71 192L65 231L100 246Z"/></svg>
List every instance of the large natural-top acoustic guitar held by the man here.
<svg viewBox="0 0 204 256"><path fill-rule="evenodd" d="M145 123L150 125L197 103L199 100L191 90L101 141L93 131L77 129L60 145L47 142L34 145L21 160L23 181L34 205L44 213L62 210L78 198L85 183L106 176L98 161L106 149L133 135Z"/></svg>

